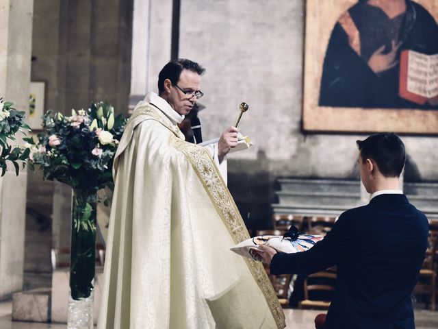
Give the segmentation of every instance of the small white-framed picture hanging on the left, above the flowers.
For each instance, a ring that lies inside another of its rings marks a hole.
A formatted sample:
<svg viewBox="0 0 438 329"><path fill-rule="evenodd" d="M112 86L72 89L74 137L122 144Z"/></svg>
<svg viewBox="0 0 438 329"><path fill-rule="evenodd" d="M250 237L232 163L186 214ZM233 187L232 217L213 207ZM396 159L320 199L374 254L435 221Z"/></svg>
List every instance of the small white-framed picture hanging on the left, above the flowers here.
<svg viewBox="0 0 438 329"><path fill-rule="evenodd" d="M32 130L41 130L41 117L44 114L46 83L43 81L32 81L30 83L29 110L26 114L27 124Z"/></svg>

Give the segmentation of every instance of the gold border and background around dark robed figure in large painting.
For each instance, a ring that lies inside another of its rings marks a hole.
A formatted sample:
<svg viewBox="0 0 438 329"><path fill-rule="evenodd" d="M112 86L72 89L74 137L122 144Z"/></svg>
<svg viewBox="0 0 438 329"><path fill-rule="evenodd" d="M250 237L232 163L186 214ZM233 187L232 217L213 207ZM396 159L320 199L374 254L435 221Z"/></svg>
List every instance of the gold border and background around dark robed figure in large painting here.
<svg viewBox="0 0 438 329"><path fill-rule="evenodd" d="M438 21L438 2L417 0ZM307 0L302 130L438 134L438 110L320 106L324 58L335 24L358 0ZM438 42L438 40L437 40Z"/></svg>

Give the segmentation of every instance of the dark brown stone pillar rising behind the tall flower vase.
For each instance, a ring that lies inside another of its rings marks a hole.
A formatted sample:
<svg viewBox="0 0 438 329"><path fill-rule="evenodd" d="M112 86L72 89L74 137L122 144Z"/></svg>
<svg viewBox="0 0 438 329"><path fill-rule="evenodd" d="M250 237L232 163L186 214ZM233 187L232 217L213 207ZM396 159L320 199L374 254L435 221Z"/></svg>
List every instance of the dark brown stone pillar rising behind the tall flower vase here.
<svg viewBox="0 0 438 329"><path fill-rule="evenodd" d="M127 112L133 0L68 2L65 112L110 101Z"/></svg>

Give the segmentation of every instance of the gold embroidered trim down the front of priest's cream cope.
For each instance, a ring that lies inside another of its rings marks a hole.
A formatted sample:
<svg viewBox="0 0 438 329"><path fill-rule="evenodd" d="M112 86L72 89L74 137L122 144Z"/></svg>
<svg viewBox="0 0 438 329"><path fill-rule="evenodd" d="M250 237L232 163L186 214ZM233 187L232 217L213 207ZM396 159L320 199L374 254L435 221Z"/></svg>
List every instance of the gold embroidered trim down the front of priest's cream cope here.
<svg viewBox="0 0 438 329"><path fill-rule="evenodd" d="M237 210L237 206L228 188L225 187L224 180L219 174L213 159L209 156L208 151L204 147L185 143L185 141L175 138L173 135L170 135L169 144L181 151L190 164L192 164L196 175L201 180L205 191L207 191L212 204L231 234L233 241L237 244L250 239L240 212ZM263 265L249 258L245 258L245 260L253 278L265 296L277 328L285 328L285 315Z"/></svg>

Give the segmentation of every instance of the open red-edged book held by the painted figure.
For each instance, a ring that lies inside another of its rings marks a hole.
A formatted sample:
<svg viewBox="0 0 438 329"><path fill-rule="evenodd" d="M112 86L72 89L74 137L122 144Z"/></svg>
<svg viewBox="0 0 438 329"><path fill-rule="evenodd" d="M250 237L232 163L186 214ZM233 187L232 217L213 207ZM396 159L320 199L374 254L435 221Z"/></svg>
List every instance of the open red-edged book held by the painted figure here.
<svg viewBox="0 0 438 329"><path fill-rule="evenodd" d="M438 97L438 53L404 50L400 55L400 97L423 105Z"/></svg>

